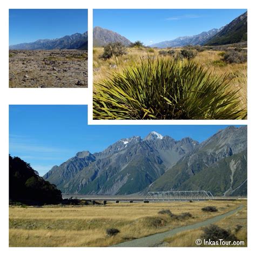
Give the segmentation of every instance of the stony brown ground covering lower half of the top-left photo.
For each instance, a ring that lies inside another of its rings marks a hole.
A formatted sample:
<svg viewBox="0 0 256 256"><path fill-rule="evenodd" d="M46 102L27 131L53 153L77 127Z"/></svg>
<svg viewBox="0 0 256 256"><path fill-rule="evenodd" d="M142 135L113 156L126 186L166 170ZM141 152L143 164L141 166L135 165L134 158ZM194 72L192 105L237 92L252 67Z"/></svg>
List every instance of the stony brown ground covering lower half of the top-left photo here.
<svg viewBox="0 0 256 256"><path fill-rule="evenodd" d="M9 50L9 87L87 87L87 51Z"/></svg>

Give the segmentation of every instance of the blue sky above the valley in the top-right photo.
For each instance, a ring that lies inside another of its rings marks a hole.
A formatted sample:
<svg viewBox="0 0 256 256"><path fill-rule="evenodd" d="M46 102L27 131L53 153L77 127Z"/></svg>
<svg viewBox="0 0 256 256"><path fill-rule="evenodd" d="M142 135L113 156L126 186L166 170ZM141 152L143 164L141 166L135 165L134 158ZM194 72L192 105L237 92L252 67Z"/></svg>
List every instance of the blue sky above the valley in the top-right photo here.
<svg viewBox="0 0 256 256"><path fill-rule="evenodd" d="M149 45L220 28L246 9L96 9L93 26Z"/></svg>

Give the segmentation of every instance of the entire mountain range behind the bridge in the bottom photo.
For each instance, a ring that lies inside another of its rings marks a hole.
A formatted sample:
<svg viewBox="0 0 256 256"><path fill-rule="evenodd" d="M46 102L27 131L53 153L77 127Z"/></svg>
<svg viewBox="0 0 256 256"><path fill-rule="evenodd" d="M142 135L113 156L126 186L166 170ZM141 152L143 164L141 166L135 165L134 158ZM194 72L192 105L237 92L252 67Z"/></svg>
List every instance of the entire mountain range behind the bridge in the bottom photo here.
<svg viewBox="0 0 256 256"><path fill-rule="evenodd" d="M43 178L63 193L209 190L245 196L247 127L227 127L202 143L157 132L120 139L102 152L78 152Z"/></svg>

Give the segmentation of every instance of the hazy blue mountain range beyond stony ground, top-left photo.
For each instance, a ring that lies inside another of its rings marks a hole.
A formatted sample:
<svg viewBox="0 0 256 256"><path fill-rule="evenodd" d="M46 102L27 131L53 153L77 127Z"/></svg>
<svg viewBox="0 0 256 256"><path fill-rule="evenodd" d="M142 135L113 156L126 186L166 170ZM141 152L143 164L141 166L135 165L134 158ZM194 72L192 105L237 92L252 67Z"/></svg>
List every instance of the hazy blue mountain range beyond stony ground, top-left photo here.
<svg viewBox="0 0 256 256"><path fill-rule="evenodd" d="M39 39L33 43L10 45L10 50L53 50L53 49L79 49L87 50L88 33L75 33L57 39Z"/></svg>

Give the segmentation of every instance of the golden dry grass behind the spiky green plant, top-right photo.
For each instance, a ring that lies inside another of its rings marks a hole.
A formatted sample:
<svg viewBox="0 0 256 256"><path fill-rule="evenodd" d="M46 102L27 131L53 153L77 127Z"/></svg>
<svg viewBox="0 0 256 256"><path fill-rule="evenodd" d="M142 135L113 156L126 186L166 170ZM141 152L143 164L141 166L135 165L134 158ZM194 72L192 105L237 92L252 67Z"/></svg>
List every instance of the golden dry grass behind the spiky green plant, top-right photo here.
<svg viewBox="0 0 256 256"><path fill-rule="evenodd" d="M159 57L159 50L153 49L154 52L149 52L147 48L127 48L127 54L119 57L111 57L104 60L100 58L104 49L93 49L93 82L99 83L101 80L111 77L112 72L119 72L129 66L132 62L138 62L140 58L157 58ZM164 49L161 49L164 50ZM166 50L166 49L165 49ZM180 49L176 49L179 51ZM206 50L198 52L198 55L194 58L194 61L205 66L205 68L217 75L227 75L232 77L231 88L235 91L239 90L239 96L241 97L241 106L247 109L247 63L243 64L227 64L225 66L219 66L214 64L214 61L221 60L219 55L220 51ZM170 57L164 57L170 58ZM94 86L94 90L97 87Z"/></svg>

